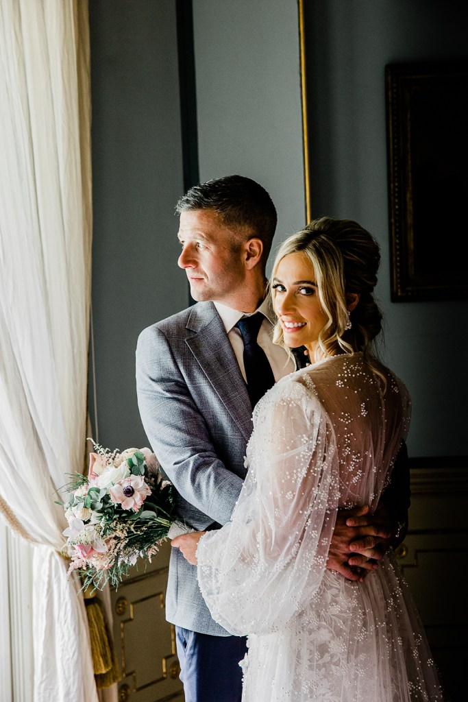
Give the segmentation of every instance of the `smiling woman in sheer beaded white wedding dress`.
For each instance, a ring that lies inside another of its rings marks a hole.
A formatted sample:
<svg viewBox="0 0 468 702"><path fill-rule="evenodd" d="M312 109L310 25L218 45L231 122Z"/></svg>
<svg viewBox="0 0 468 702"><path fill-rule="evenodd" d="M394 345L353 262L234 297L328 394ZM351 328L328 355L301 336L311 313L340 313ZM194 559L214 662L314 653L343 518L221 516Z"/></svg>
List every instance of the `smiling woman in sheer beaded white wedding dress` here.
<svg viewBox="0 0 468 702"><path fill-rule="evenodd" d="M213 618L248 635L243 702L443 700L392 552L361 582L326 569L337 510L375 509L410 423L408 390L371 351L379 263L351 220L314 220L282 244L274 340L311 363L255 406L230 522L171 542L198 563Z"/></svg>

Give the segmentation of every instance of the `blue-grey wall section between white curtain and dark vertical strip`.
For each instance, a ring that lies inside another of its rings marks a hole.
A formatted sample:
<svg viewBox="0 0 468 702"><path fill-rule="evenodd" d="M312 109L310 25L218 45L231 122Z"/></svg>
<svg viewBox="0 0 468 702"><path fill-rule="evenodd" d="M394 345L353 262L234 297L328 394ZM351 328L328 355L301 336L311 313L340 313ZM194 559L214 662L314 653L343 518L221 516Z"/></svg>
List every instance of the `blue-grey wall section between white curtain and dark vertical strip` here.
<svg viewBox="0 0 468 702"><path fill-rule="evenodd" d="M175 4L91 0L94 401L102 444L146 446L135 345L187 307L176 260L183 192ZM91 371L93 370L91 364Z"/></svg>

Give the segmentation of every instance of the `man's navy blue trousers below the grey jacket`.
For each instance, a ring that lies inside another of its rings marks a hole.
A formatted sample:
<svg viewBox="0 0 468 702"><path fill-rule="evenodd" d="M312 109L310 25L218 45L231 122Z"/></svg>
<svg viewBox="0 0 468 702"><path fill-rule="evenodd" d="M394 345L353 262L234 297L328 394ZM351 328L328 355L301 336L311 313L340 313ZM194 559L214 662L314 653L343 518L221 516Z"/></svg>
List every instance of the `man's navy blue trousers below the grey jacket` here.
<svg viewBox="0 0 468 702"><path fill-rule="evenodd" d="M241 702L242 669L247 652L241 636L211 636L175 627L180 680L185 702Z"/></svg>

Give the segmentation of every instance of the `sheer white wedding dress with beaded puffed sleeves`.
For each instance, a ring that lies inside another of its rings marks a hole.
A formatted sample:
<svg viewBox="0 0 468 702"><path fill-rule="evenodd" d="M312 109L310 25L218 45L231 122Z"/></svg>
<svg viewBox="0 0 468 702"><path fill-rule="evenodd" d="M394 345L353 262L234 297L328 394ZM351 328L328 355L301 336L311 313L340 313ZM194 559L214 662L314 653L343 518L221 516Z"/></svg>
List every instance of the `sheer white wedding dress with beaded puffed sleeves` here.
<svg viewBox="0 0 468 702"><path fill-rule="evenodd" d="M283 378L255 407L232 519L197 550L216 621L248 635L243 702L443 699L408 587L389 554L363 583L326 570L337 508L375 508L410 398L361 353Z"/></svg>

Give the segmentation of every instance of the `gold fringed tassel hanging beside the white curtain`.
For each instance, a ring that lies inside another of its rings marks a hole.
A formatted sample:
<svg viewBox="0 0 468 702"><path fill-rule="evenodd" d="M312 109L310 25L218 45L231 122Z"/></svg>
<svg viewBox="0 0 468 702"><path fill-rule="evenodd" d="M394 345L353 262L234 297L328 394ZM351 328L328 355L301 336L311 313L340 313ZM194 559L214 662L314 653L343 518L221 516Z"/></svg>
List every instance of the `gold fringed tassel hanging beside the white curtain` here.
<svg viewBox="0 0 468 702"><path fill-rule="evenodd" d="M112 637L107 628L101 602L89 591L83 594L88 615L96 687L109 687L119 680L119 665Z"/></svg>

